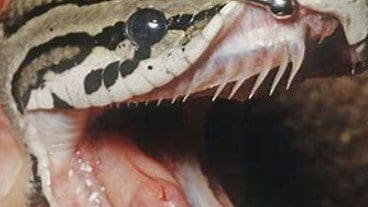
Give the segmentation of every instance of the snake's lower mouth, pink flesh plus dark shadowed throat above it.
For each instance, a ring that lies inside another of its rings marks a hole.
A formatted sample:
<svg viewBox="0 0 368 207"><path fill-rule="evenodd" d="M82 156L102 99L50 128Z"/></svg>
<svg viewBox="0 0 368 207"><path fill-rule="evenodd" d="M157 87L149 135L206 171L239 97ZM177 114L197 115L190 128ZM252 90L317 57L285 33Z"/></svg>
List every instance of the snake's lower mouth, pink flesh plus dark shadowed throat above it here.
<svg viewBox="0 0 368 207"><path fill-rule="evenodd" d="M196 108L112 109L92 122L79 118L95 111L28 115L43 137L32 150L51 206L232 206L203 156L204 108Z"/></svg>

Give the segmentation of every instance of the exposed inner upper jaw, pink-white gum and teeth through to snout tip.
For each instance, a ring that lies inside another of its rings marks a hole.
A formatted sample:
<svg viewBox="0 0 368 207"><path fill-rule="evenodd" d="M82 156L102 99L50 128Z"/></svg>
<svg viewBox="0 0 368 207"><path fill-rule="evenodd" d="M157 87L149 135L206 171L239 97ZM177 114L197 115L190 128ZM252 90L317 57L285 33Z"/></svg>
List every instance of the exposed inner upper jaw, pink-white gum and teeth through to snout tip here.
<svg viewBox="0 0 368 207"><path fill-rule="evenodd" d="M274 74L270 94L284 76L289 88L294 78L349 75L364 69L366 45L352 44L354 37L349 36L344 22L336 16L301 5L291 21L277 20L267 10L245 5L238 5L243 8L220 32L225 35L218 35L212 42L215 46L205 51L186 73L130 101L174 102L180 97L185 101L192 94L212 96L213 100L244 100L253 97L266 76L276 71L281 72ZM255 81L249 81L257 76ZM231 89L229 83L234 82Z"/></svg>

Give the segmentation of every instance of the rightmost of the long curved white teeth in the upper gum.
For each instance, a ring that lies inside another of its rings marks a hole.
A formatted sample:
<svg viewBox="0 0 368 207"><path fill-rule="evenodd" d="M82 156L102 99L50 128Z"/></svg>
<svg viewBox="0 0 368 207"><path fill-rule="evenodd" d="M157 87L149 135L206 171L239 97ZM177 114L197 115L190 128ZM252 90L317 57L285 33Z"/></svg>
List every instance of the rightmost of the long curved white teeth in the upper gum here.
<svg viewBox="0 0 368 207"><path fill-rule="evenodd" d="M286 89L289 90L290 86L299 72L300 67L303 64L304 55L305 55L305 44L304 41L299 40L298 43L293 43L294 48L289 48L289 53L291 57L291 62L293 63L293 67L291 69L290 77L287 83Z"/></svg>

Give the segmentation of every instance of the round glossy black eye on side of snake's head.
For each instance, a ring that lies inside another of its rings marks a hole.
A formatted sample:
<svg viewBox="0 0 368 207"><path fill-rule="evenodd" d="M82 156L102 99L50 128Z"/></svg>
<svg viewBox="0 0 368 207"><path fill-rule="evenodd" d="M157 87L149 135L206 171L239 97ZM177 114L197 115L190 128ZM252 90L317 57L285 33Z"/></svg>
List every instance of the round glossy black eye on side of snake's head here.
<svg viewBox="0 0 368 207"><path fill-rule="evenodd" d="M165 15L154 9L140 9L127 22L128 38L139 46L151 46L159 42L168 29Z"/></svg>

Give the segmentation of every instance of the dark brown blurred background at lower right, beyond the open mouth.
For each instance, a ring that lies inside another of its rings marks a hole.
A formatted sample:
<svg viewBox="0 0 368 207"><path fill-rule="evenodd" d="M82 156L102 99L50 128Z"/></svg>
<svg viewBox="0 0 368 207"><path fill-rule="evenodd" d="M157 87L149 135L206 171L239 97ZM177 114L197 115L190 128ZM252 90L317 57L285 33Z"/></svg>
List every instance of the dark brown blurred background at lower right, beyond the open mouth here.
<svg viewBox="0 0 368 207"><path fill-rule="evenodd" d="M217 101L207 123L212 168L240 207L368 206L367 97L360 75Z"/></svg>

